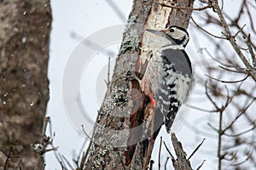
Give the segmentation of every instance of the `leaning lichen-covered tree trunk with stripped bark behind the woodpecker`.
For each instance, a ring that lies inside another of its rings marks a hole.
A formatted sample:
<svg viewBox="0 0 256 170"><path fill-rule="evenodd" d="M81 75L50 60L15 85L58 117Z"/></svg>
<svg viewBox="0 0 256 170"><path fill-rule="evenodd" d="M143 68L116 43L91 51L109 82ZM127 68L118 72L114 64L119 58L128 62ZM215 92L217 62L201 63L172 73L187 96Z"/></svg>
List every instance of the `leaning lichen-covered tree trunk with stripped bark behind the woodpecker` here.
<svg viewBox="0 0 256 170"><path fill-rule="evenodd" d="M157 2L192 8L194 1ZM137 77L143 77L147 66L149 40L145 28L160 30L172 25L187 28L190 15L190 10L134 0L112 82L98 111L85 169L148 168L159 129L156 133L151 132L154 115L148 116L148 103L131 74L134 72Z"/></svg>

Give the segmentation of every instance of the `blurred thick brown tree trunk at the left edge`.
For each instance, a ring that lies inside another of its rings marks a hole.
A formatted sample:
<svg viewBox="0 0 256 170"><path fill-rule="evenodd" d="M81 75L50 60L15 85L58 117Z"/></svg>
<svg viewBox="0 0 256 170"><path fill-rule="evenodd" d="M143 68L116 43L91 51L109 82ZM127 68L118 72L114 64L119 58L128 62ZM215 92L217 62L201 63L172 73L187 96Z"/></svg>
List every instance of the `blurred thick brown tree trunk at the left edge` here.
<svg viewBox="0 0 256 170"><path fill-rule="evenodd" d="M49 99L51 9L49 0L3 0L0 11L0 169L33 169Z"/></svg>

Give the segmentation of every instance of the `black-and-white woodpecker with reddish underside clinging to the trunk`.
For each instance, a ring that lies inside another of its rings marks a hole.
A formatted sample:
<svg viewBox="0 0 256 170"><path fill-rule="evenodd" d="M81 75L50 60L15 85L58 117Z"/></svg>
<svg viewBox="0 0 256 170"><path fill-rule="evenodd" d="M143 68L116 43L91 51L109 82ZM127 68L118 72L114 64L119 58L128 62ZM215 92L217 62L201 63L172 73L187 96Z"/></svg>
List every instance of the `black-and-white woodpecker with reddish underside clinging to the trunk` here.
<svg viewBox="0 0 256 170"><path fill-rule="evenodd" d="M179 26L146 31L154 42L148 44L151 46L150 59L140 86L151 106L163 116L161 120L170 133L180 105L188 98L192 82L191 62L185 52L189 34Z"/></svg>

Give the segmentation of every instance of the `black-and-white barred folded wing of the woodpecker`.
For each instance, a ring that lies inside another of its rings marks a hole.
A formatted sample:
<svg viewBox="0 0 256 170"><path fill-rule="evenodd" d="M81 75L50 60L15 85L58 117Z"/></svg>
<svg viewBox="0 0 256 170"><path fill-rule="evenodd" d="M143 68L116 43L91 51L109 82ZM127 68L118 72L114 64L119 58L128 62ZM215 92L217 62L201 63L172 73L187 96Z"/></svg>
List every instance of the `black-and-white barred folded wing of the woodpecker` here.
<svg viewBox="0 0 256 170"><path fill-rule="evenodd" d="M187 99L192 77L192 68L188 55L180 49L167 49L161 55L164 64L163 82L160 82L157 100L158 108L165 117L167 132L179 106Z"/></svg>

